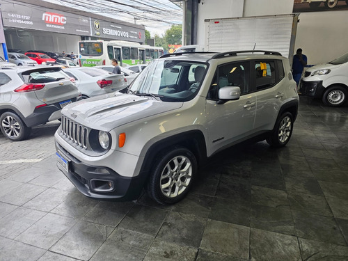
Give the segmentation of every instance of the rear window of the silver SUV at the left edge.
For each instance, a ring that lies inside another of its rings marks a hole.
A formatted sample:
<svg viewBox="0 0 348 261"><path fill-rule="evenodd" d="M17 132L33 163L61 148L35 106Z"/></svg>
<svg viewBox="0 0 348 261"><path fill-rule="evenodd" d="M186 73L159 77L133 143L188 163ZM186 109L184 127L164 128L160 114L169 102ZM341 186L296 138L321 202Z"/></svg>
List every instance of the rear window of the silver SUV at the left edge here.
<svg viewBox="0 0 348 261"><path fill-rule="evenodd" d="M47 83L52 81L61 81L69 79L61 68L42 68L38 70L30 70L22 73L25 83Z"/></svg>

